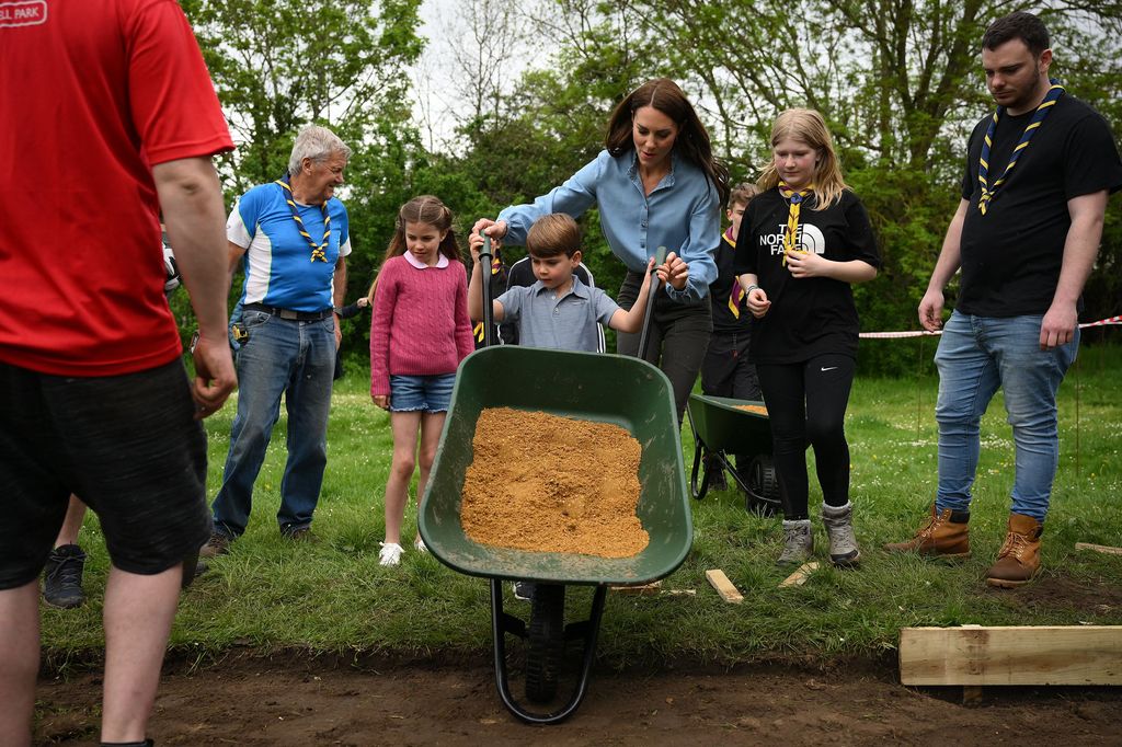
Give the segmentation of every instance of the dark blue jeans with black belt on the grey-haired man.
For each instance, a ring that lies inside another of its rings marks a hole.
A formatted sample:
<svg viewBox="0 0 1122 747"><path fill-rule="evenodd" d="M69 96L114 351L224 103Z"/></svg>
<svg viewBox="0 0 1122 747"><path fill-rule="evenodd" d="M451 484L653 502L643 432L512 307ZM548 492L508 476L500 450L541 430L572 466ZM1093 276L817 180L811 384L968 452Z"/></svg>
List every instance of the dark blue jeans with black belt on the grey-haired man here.
<svg viewBox="0 0 1122 747"><path fill-rule="evenodd" d="M249 339L238 351L238 414L230 431L222 488L211 509L214 528L246 531L254 482L265 461L280 396L288 411L288 460L280 480L280 532L312 524L328 463L328 414L335 368L334 320L297 322L260 311L242 314Z"/></svg>

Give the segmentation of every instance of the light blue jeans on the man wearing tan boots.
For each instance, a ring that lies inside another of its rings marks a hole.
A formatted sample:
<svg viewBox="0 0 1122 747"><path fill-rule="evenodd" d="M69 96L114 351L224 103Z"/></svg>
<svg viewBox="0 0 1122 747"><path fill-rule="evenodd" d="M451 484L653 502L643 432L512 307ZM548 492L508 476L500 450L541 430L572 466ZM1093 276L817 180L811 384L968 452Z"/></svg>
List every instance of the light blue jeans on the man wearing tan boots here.
<svg viewBox="0 0 1122 747"><path fill-rule="evenodd" d="M1005 391L1017 449L1013 513L1043 522L1059 462L1056 390L1079 349L1040 350L1042 316L972 316L957 311L942 330L939 369L939 488L936 508L968 510L981 452L980 423L993 395Z"/></svg>

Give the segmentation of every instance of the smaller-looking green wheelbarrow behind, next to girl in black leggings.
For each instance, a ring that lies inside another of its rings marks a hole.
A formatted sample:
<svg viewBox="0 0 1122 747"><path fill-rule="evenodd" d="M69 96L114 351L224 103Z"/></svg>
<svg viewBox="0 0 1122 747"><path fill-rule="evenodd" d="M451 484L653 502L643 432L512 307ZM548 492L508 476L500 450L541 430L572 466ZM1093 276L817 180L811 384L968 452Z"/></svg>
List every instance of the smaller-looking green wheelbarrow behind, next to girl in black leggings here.
<svg viewBox="0 0 1122 747"><path fill-rule="evenodd" d="M772 463L771 424L767 415L742 409L763 406L760 400L732 399L691 394L687 403L693 431L693 469L690 492L698 500L709 490L712 470L727 470L744 490L745 508L773 514L782 507L782 489ZM728 454L752 454L747 469L729 461Z"/></svg>

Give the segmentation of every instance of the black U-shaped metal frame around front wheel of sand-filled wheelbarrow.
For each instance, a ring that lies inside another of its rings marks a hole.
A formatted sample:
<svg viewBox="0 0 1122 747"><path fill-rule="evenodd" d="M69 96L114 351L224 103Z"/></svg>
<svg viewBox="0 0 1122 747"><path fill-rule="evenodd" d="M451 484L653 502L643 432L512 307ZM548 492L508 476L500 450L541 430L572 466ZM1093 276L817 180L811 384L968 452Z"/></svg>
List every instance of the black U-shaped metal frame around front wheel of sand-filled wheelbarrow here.
<svg viewBox="0 0 1122 747"><path fill-rule="evenodd" d="M498 688L498 697L511 713L526 723L559 723L572 716L585 699L588 691L588 677L592 671L592 661L596 658L596 640L600 631L600 618L604 615L604 600L607 597L606 584L596 587L592 597L592 609L587 620L574 622L565 627L565 638L583 637L585 656L581 663L580 679L573 690L569 702L562 708L551 713L534 713L527 711L511 694L511 683L506 671L506 634L519 637L526 636L526 626L518 618L503 611L503 581L491 579L491 634L495 638L495 684Z"/></svg>

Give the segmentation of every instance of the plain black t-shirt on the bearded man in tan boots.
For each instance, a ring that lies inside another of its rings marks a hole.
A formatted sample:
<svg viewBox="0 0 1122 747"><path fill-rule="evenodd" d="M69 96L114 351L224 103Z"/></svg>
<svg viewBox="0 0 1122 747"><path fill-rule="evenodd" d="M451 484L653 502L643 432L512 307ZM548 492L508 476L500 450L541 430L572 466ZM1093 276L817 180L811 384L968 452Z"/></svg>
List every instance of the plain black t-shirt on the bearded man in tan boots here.
<svg viewBox="0 0 1122 747"><path fill-rule="evenodd" d="M987 181L1001 178L1032 111L997 121ZM1072 225L1073 197L1116 191L1122 164L1106 121L1078 99L1064 94L1040 123L1004 183L978 210L978 159L993 116L971 135L963 176L969 201L962 233L962 284L957 308L980 316L1043 314L1051 306Z"/></svg>

